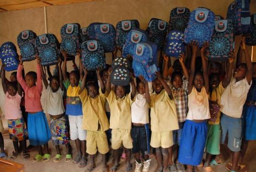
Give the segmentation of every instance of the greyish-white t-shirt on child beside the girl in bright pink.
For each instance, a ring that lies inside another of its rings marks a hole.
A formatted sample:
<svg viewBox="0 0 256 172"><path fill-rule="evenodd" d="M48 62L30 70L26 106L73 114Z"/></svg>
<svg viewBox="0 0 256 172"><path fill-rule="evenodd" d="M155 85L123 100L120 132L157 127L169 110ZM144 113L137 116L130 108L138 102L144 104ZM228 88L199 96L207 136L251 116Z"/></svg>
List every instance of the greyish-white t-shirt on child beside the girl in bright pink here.
<svg viewBox="0 0 256 172"><path fill-rule="evenodd" d="M65 112L63 105L64 91L59 88L52 92L50 85L42 91L41 104L45 113L50 115L60 115Z"/></svg>

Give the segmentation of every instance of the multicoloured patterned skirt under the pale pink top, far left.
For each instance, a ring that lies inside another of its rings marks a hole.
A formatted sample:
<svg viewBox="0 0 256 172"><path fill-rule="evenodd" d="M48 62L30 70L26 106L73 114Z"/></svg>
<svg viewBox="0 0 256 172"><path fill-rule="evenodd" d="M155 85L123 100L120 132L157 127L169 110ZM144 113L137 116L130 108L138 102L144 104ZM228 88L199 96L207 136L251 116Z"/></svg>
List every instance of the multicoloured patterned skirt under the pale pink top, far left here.
<svg viewBox="0 0 256 172"><path fill-rule="evenodd" d="M7 123L10 139L13 141L22 141L28 138L28 129L23 117L19 119L8 119Z"/></svg>

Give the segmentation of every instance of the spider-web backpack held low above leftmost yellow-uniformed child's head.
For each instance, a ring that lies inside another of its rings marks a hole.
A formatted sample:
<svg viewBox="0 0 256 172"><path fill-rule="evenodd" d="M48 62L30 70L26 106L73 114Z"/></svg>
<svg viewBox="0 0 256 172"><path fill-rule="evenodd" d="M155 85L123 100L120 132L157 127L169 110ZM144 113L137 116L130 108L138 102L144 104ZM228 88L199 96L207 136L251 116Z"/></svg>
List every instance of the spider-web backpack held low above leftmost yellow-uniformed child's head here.
<svg viewBox="0 0 256 172"><path fill-rule="evenodd" d="M83 66L89 70L97 70L98 67L105 67L105 56L103 46L100 41L87 40L81 47L81 59Z"/></svg>

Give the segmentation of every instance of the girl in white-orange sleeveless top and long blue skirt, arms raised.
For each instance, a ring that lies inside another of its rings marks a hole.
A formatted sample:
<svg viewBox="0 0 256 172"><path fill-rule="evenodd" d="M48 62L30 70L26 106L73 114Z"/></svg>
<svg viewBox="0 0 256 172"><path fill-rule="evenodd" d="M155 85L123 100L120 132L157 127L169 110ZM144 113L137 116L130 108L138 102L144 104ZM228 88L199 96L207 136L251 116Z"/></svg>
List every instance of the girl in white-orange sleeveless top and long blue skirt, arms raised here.
<svg viewBox="0 0 256 172"><path fill-rule="evenodd" d="M209 82L205 57L205 49L208 43L204 43L200 50L203 73L195 72L197 42L193 41L190 45L192 46L192 59L188 86L189 111L181 135L178 161L187 165L187 172L192 172L193 166L195 172L198 172L197 166L202 160L206 144L206 119L211 117L209 112Z"/></svg>

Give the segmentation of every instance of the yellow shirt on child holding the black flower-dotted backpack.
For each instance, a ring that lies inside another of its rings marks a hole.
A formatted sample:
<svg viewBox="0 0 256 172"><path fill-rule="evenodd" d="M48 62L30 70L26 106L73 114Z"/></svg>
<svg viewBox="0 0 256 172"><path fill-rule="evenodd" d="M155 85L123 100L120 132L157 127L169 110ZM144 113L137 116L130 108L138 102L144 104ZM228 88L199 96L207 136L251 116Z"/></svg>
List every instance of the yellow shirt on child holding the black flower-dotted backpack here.
<svg viewBox="0 0 256 172"><path fill-rule="evenodd" d="M116 96L113 90L107 96L107 101L110 107L110 128L112 129L131 129L131 93L120 99Z"/></svg>

